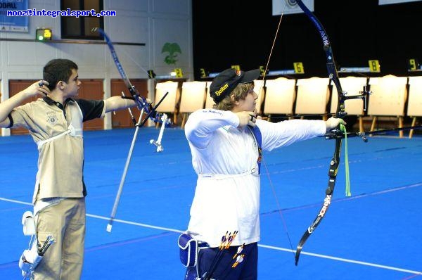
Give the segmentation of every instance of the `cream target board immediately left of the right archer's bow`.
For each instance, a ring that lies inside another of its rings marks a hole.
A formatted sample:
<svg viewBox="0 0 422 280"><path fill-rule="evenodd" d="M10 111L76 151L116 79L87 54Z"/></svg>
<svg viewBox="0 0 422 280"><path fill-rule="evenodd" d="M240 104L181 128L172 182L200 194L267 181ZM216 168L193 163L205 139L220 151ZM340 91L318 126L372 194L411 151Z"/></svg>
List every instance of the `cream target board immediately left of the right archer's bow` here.
<svg viewBox="0 0 422 280"><path fill-rule="evenodd" d="M296 114L325 114L329 98L330 79L312 77L298 79L296 97Z"/></svg>

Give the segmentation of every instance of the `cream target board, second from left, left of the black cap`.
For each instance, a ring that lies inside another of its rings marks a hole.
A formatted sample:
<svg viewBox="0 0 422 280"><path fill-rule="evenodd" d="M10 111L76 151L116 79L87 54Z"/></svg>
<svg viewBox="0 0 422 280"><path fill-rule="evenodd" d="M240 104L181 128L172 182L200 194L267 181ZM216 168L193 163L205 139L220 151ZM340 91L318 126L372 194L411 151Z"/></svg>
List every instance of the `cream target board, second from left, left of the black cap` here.
<svg viewBox="0 0 422 280"><path fill-rule="evenodd" d="M204 108L206 82L184 82L181 85L180 113Z"/></svg>

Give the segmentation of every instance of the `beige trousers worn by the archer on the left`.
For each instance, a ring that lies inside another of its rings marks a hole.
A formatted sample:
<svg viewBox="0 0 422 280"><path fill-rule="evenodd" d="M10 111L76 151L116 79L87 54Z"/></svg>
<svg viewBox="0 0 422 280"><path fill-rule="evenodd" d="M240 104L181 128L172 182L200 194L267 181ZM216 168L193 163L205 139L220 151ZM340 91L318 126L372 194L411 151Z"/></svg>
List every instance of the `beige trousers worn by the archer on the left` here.
<svg viewBox="0 0 422 280"><path fill-rule="evenodd" d="M66 198L39 212L38 248L52 235L54 243L34 272L34 280L77 280L84 261L85 198Z"/></svg>

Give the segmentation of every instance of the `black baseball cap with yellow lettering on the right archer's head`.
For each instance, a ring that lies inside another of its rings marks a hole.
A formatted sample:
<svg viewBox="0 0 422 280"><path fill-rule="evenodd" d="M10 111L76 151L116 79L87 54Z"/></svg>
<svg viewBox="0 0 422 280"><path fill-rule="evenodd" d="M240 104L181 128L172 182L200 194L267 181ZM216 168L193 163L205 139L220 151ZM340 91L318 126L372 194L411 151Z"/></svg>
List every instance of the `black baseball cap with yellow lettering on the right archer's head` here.
<svg viewBox="0 0 422 280"><path fill-rule="evenodd" d="M228 96L238 84L247 84L260 77L260 69L241 71L233 68L219 73L210 85L210 96L215 103L219 103Z"/></svg>

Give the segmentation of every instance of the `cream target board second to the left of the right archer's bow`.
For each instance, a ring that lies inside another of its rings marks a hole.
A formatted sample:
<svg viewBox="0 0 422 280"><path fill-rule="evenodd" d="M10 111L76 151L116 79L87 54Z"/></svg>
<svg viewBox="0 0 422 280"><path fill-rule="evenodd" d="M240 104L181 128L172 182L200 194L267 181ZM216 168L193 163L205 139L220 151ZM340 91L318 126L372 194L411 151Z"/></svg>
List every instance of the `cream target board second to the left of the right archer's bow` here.
<svg viewBox="0 0 422 280"><path fill-rule="evenodd" d="M295 103L295 79L279 77L267 79L265 82L264 114L293 115L293 103Z"/></svg>

